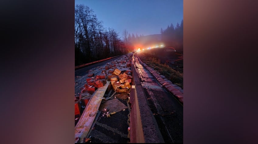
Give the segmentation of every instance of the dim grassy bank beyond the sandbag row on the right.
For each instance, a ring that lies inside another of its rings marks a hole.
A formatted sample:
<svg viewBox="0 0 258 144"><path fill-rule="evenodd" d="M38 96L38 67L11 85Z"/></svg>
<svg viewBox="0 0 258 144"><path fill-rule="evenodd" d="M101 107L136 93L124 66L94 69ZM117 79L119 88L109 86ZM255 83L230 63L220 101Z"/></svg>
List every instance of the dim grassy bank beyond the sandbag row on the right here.
<svg viewBox="0 0 258 144"><path fill-rule="evenodd" d="M141 52L138 54L138 57L140 57L141 61L147 64L149 67L157 70L173 84L183 89L183 73L172 69L166 63L162 64L160 59L154 53Z"/></svg>

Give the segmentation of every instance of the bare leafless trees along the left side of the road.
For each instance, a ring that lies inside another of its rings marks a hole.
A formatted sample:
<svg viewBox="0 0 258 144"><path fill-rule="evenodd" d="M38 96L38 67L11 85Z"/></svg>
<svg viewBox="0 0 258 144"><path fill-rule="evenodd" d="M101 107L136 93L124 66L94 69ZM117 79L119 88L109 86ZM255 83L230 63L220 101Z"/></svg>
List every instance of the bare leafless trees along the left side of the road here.
<svg viewBox="0 0 258 144"><path fill-rule="evenodd" d="M115 29L104 28L88 6L75 6L75 66L127 52Z"/></svg>

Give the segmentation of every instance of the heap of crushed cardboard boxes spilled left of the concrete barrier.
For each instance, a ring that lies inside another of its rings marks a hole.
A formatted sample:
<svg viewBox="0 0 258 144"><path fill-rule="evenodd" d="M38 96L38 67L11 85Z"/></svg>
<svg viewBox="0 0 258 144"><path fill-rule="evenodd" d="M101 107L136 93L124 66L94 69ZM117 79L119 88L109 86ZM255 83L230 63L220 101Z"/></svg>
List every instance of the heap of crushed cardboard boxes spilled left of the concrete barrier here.
<svg viewBox="0 0 258 144"><path fill-rule="evenodd" d="M132 84L131 60L132 54L107 63L105 67L100 67L100 74L95 75L92 71L89 71L79 97L75 97L75 115L79 114L81 107L82 109L85 108L92 94L99 87L103 87L107 80L111 81L107 91L113 89L116 93L129 93Z"/></svg>

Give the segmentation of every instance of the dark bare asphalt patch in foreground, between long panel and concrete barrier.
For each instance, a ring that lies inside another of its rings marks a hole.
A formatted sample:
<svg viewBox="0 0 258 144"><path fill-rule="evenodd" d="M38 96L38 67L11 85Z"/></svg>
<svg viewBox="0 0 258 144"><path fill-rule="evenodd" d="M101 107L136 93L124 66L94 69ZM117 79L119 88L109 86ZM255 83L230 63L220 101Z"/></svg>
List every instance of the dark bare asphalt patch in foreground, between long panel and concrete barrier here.
<svg viewBox="0 0 258 144"><path fill-rule="evenodd" d="M110 99L109 99L110 100ZM127 100L118 99L124 105ZM130 108L109 116L99 111L88 134L91 143L130 143ZM98 116L99 115L99 116Z"/></svg>

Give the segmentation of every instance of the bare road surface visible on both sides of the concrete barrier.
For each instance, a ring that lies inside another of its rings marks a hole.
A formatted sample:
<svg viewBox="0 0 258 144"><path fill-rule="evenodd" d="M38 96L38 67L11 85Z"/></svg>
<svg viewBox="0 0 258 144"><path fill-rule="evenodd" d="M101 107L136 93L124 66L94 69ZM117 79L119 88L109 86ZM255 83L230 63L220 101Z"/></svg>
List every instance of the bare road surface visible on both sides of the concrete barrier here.
<svg viewBox="0 0 258 144"><path fill-rule="evenodd" d="M123 56L75 70L75 96L78 96L80 87L83 87L85 84L85 79L87 78L86 74L88 74L86 71L95 70L99 73L101 70L99 70L98 67L103 67L106 63L121 57ZM135 67L144 89L146 101L155 117L164 142L183 143L183 105L158 83L155 77L140 64L137 58L135 59ZM111 117L105 117L103 116L103 112L99 111L92 125L92 130L88 134L90 137L89 142L130 142L129 131L127 129L129 127L128 116L130 116L130 106L128 105L128 99L119 100L124 103L125 106L128 106L128 108Z"/></svg>

